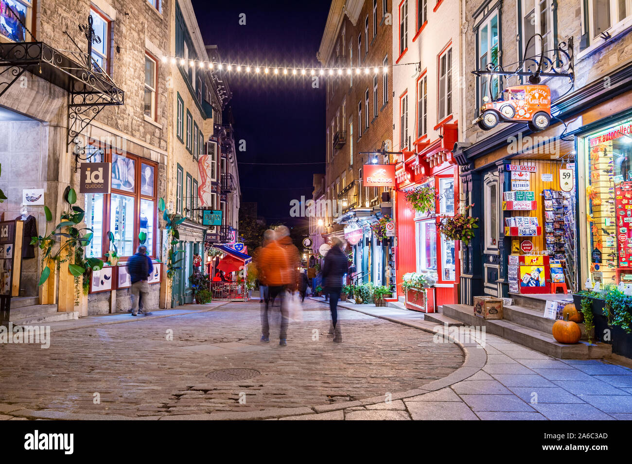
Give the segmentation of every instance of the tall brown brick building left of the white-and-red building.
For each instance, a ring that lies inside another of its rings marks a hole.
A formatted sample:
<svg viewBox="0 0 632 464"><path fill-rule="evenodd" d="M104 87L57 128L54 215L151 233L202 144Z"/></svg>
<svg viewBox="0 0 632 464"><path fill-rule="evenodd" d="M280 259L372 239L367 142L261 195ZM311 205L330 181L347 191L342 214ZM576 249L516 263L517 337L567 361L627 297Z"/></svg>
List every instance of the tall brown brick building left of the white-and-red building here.
<svg viewBox="0 0 632 464"><path fill-rule="evenodd" d="M383 201L386 188L363 186L362 167L370 155L360 152L383 146L392 151L391 44L391 1L334 0L317 55L323 68L334 71L324 76L327 215L322 234L344 239L345 227L362 229L362 240L351 244L353 259L360 282L376 285L390 283L394 266L390 247L377 244L370 224L391 203ZM388 157L378 158L379 164L389 163Z"/></svg>

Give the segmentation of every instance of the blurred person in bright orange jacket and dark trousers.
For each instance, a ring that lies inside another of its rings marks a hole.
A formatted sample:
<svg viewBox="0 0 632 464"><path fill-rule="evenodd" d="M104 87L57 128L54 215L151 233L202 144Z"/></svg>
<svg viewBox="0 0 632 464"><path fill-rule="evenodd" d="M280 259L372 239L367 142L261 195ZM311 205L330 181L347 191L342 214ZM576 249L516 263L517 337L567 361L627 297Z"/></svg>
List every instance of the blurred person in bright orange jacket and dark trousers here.
<svg viewBox="0 0 632 464"><path fill-rule="evenodd" d="M281 300L281 333L279 345L287 345L288 338L288 308L286 307L286 290L296 289L296 271L298 270L298 249L289 239L289 229L280 226L274 231L274 240L263 247L259 253L260 273L265 285L268 285L268 301L274 302L277 295ZM270 327L268 321L268 304L261 309L261 341L270 341Z"/></svg>

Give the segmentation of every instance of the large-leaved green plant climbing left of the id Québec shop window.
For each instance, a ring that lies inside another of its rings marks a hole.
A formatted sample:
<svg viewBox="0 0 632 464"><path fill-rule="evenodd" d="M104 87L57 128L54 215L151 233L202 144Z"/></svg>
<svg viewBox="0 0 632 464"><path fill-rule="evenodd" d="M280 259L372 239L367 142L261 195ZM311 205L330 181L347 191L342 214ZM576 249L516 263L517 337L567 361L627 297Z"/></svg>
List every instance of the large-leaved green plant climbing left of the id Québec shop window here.
<svg viewBox="0 0 632 464"><path fill-rule="evenodd" d="M48 232L48 223L52 222L52 213L48 206L44 206L46 235L33 237L30 244L39 247L44 252L44 256L42 256L42 274L38 285L42 285L48 280L52 271L51 266L59 268L61 263L68 261L68 258L73 256L74 263L68 265L68 270L75 278L83 276L83 292L86 293L90 282L90 272L102 269L103 261L98 258L85 258L83 247L90 244L93 232L88 227L78 227L79 223L83 221L85 211L79 206L73 206L76 203L76 199L75 189L67 188L64 193L64 200L70 206L70 210L61 213L60 222L51 232ZM67 240L58 248L56 253L52 253L58 237L66 237Z"/></svg>

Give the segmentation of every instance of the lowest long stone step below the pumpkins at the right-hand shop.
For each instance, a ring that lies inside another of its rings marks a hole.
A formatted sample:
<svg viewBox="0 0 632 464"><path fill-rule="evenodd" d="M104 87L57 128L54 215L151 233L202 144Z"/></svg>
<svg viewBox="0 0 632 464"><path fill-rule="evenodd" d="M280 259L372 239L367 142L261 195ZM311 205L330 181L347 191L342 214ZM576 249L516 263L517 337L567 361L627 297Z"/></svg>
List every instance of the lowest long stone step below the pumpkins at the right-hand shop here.
<svg viewBox="0 0 632 464"><path fill-rule="evenodd" d="M445 316L462 321L465 325L484 326L486 333L502 336L559 359L602 359L612 355L612 345L607 343L588 345L587 342L580 342L566 345L557 342L550 332L534 330L506 319L479 318L474 315L473 307L465 304L444 304L443 311Z"/></svg>

